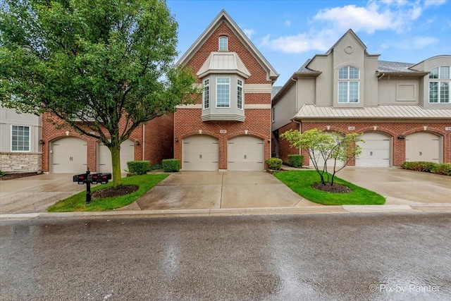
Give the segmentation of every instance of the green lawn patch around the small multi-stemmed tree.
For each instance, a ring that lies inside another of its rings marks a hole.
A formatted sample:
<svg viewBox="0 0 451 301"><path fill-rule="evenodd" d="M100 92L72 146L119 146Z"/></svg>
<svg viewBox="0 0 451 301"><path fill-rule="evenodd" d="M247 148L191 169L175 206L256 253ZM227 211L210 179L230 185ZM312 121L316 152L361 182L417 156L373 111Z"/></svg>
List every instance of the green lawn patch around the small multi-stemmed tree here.
<svg viewBox="0 0 451 301"><path fill-rule="evenodd" d="M319 174L316 171L282 171L280 173L274 173L274 176L301 197L323 205L370 205L385 203L385 197L382 195L346 182L336 176L334 183L345 185L351 188L352 192L330 193L311 188L311 184L321 182Z"/></svg>

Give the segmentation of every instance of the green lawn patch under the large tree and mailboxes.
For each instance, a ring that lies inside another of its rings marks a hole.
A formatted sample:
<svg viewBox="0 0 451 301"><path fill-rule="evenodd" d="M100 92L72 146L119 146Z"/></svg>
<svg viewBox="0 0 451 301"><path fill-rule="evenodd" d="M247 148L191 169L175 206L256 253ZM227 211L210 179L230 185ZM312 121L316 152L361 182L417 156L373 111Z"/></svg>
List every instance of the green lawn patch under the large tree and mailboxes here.
<svg viewBox="0 0 451 301"><path fill-rule="evenodd" d="M135 202L138 197L144 195L145 192L150 190L156 184L160 183L169 176L168 173L160 174L148 174L143 176L132 176L122 179L123 185L137 185L140 189L129 195L122 195L120 197L106 197L104 199L92 199L90 204L85 204L86 200L86 190L68 197L67 199L62 199L56 202L53 206L47 208L49 212L68 212L68 211L106 211L116 208L121 208ZM111 187L112 182L106 185L92 185L91 193L99 190L101 188Z"/></svg>

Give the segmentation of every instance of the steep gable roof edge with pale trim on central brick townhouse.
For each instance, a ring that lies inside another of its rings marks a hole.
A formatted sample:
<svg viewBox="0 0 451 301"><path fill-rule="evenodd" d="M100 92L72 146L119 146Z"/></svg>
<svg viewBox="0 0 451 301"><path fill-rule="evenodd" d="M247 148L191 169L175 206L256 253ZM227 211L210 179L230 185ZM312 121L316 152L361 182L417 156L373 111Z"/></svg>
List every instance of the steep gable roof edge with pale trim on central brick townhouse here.
<svg viewBox="0 0 451 301"><path fill-rule="evenodd" d="M245 33L241 30L240 27L235 23L232 18L226 13L225 10L222 10L216 18L210 23L208 27L206 27L206 30L202 32L202 35L200 35L196 42L192 44L192 46L183 54L183 56L180 58L180 60L177 62L177 65L185 65L192 56L199 50L200 47L204 44L206 39L210 37L210 35L216 30L216 28L221 25L222 22L226 22L228 27L230 27L230 30L233 31L233 33L240 39L242 44L245 45L245 47L251 52L251 54L254 56L257 61L261 64L263 68L266 69L266 72L268 73L268 79L269 80L276 80L279 76L279 74L276 72L276 70L271 66L271 64L266 61L264 56L260 53L260 51L257 49L257 47L252 44L251 40L245 35Z"/></svg>

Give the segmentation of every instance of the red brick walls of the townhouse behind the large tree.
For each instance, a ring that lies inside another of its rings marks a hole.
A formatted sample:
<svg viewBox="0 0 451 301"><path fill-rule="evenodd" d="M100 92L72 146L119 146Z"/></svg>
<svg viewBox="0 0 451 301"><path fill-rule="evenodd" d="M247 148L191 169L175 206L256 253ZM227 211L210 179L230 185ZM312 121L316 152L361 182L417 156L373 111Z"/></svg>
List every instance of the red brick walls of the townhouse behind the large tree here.
<svg viewBox="0 0 451 301"><path fill-rule="evenodd" d="M57 125L54 125L54 122ZM123 129L124 126L125 121L121 121L120 128ZM144 143L142 131L143 125L138 126L129 137L129 140L135 142L135 160L144 159L150 160L151 164L161 164L162 159L172 157L173 113L154 118L147 125L144 125ZM63 137L78 137L85 140L87 142L87 167L90 171L97 171L97 146L99 141L94 137L81 135L72 128L64 126L61 121L58 121L58 118L52 117L50 113L44 113L42 118L42 140L44 141L44 145L42 145L42 171L51 172L49 166L51 142Z"/></svg>

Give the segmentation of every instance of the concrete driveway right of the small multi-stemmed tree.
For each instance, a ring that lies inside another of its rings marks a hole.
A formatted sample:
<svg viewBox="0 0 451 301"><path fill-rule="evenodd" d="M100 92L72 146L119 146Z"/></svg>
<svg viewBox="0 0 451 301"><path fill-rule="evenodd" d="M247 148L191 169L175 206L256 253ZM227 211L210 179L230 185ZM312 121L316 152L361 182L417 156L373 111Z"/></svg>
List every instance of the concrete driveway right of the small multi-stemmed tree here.
<svg viewBox="0 0 451 301"><path fill-rule="evenodd" d="M345 167L338 178L378 192L386 205L451 204L451 177L401 168Z"/></svg>

